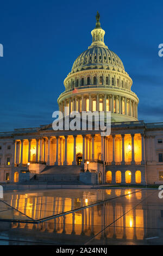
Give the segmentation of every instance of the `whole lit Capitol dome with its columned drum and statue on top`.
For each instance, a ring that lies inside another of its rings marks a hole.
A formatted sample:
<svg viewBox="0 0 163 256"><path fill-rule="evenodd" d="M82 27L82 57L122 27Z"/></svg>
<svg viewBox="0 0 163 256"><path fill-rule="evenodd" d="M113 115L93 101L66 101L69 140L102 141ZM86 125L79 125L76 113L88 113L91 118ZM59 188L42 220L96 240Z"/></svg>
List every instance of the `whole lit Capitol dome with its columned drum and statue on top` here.
<svg viewBox="0 0 163 256"><path fill-rule="evenodd" d="M65 92L59 96L59 109L71 111L110 111L112 121L137 120L139 99L131 92L133 81L121 59L104 44L105 31L99 14L92 30L92 44L74 61L65 78ZM76 88L76 93L73 93ZM68 113L65 113L68 114Z"/></svg>

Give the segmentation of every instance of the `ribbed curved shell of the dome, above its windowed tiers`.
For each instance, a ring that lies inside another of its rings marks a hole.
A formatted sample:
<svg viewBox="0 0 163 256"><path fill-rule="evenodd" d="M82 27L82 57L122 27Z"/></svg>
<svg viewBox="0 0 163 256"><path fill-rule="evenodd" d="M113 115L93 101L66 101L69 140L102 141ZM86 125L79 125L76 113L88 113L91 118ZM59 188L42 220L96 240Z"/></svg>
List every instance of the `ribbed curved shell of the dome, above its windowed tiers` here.
<svg viewBox="0 0 163 256"><path fill-rule="evenodd" d="M124 70L121 59L106 47L91 47L81 53L75 60L71 72L85 69L119 69Z"/></svg>

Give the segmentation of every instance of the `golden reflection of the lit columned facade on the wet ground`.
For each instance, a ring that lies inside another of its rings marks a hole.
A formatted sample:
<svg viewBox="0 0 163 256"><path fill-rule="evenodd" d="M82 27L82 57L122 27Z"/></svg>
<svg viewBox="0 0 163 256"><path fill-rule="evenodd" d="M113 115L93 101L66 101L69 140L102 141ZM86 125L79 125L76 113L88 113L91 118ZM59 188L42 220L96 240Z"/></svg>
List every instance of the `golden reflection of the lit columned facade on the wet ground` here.
<svg viewBox="0 0 163 256"><path fill-rule="evenodd" d="M59 195L50 197L37 193L14 194L8 198L8 203L34 220L95 203L98 200L106 199L110 194L111 196L127 194L127 196L108 200L103 204L97 204L40 224L11 223L11 228L26 231L37 230L41 233L58 235L92 236L101 231L104 226L111 224L103 233L96 236L96 239L101 239L103 236L106 239L143 240L146 235L146 209L143 209L142 205L133 208L136 203L132 204L134 200L135 202L141 200L142 191L131 193L128 189L125 191L117 189L114 190L114 194L112 193L112 190L109 189L101 190L98 191L97 196L96 192L82 191L80 196L76 198L74 195L71 198L69 195L67 197L59 197ZM132 199L133 201L131 201ZM16 214L19 215L19 213L15 212L15 218Z"/></svg>

